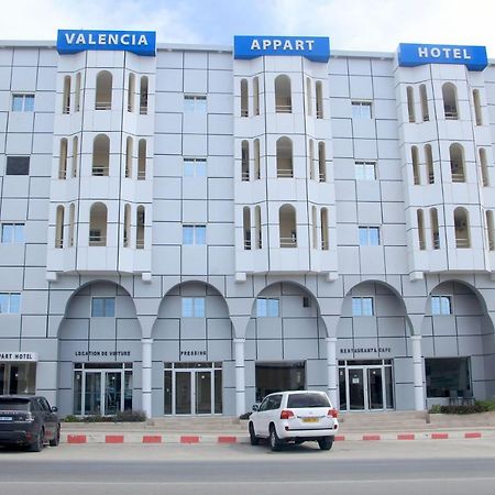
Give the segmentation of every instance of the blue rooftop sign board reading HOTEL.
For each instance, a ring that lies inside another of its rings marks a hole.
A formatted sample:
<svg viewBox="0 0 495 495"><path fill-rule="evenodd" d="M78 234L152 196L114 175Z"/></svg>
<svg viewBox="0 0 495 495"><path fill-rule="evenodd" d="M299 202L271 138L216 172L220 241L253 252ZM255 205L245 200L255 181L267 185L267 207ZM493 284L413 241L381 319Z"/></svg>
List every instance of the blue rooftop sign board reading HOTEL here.
<svg viewBox="0 0 495 495"><path fill-rule="evenodd" d="M425 64L459 64L469 70L483 70L488 65L484 46L420 45L400 43L398 51L400 67Z"/></svg>

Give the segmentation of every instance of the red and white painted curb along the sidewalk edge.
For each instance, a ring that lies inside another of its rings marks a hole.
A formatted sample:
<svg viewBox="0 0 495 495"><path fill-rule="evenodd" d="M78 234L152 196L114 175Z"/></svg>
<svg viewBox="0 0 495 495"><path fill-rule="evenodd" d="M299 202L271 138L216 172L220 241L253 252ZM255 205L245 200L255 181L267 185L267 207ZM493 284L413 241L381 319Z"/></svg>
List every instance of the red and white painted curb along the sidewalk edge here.
<svg viewBox="0 0 495 495"><path fill-rule="evenodd" d="M473 440L482 438L495 438L495 431L438 431L438 432L419 432L419 433L349 433L337 435L336 442L342 441L413 441L413 440ZM249 437L245 435L162 435L162 433L63 433L62 442L70 444L81 443L249 443Z"/></svg>

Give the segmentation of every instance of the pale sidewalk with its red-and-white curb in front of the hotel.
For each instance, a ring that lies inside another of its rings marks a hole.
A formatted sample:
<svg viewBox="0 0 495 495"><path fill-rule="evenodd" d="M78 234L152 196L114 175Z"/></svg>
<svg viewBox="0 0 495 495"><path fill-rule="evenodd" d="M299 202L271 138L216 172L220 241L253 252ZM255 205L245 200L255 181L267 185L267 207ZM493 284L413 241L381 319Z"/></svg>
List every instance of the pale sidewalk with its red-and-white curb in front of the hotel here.
<svg viewBox="0 0 495 495"><path fill-rule="evenodd" d="M391 419L392 418L392 419ZM413 418L413 419L411 419ZM495 414L343 415L336 441L431 441L495 439ZM364 425L364 426L363 426ZM235 418L156 418L146 422L62 424L61 441L82 443L249 443L248 421Z"/></svg>

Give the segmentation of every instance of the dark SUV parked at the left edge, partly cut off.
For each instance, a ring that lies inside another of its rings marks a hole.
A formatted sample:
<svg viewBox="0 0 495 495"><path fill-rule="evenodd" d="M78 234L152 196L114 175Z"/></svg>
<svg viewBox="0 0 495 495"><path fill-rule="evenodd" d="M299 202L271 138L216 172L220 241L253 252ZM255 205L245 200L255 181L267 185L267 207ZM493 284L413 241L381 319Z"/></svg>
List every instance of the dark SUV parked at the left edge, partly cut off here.
<svg viewBox="0 0 495 495"><path fill-rule="evenodd" d="M45 397L0 395L0 446L26 446L40 452L46 442L61 440L57 408Z"/></svg>

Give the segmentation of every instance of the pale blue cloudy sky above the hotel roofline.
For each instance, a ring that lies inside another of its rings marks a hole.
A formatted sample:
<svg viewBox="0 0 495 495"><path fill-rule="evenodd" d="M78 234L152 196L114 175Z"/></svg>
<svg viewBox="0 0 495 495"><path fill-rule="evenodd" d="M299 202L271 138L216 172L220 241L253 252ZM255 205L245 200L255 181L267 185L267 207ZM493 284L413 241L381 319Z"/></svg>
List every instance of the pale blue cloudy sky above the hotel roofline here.
<svg viewBox="0 0 495 495"><path fill-rule="evenodd" d="M1 40L54 41L58 29L156 31L158 43L223 46L234 34L319 35L332 50L464 44L495 58L493 0L3 0L1 13Z"/></svg>

